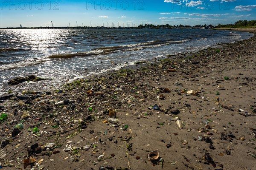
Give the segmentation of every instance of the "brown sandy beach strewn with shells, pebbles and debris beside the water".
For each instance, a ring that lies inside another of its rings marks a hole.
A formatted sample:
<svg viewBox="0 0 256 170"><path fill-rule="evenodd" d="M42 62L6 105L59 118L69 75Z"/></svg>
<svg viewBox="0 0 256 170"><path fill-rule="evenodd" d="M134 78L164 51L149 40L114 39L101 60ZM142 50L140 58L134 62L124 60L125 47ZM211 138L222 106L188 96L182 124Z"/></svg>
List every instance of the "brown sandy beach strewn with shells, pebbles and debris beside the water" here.
<svg viewBox="0 0 256 170"><path fill-rule="evenodd" d="M256 36L78 79L55 91L6 94L0 165L253 170L255 88ZM154 150L156 161L148 158Z"/></svg>

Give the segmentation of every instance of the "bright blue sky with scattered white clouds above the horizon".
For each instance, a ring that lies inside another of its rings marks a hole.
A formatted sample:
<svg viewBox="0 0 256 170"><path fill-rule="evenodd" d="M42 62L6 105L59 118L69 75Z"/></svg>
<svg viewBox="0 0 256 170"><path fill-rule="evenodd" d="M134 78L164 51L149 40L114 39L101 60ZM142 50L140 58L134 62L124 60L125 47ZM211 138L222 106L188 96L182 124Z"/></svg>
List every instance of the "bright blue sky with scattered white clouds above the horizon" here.
<svg viewBox="0 0 256 170"><path fill-rule="evenodd" d="M0 0L0 28L229 24L256 20L256 0Z"/></svg>

